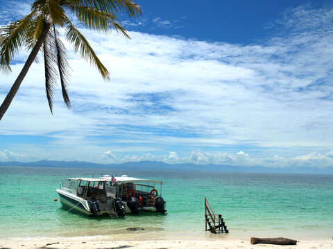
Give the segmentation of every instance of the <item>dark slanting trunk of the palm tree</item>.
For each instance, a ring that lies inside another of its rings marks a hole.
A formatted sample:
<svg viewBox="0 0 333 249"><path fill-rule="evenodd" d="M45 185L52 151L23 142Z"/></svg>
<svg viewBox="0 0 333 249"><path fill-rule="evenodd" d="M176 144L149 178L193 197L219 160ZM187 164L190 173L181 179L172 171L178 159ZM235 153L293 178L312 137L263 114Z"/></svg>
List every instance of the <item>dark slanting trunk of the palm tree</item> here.
<svg viewBox="0 0 333 249"><path fill-rule="evenodd" d="M28 73L28 70L33 64L33 61L35 60L37 53L40 51L40 48L42 47L42 44L46 38L47 33L49 33L50 30L50 24L46 21L44 21L42 33L40 34L40 37L37 39L37 42L35 46L33 47L33 50L31 50L30 55L28 56L28 59L26 59L26 63L24 64L21 73L19 73L19 76L17 76L17 79L15 80L14 84L12 84L12 88L10 89L9 93L7 94L5 100L3 100L3 103L0 107L0 120L5 115L8 107L10 106L10 103L12 102L12 99L15 97L17 91L19 90L19 86L21 85L24 77L26 77L26 73Z"/></svg>

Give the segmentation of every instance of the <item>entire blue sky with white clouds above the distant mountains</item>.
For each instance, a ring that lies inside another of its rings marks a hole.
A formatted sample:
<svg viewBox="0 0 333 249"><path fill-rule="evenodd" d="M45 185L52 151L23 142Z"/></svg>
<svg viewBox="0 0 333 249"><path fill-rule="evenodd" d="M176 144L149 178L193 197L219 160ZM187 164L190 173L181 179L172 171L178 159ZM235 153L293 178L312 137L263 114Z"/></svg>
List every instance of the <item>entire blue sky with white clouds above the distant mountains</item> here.
<svg viewBox="0 0 333 249"><path fill-rule="evenodd" d="M0 3L6 25L31 2ZM137 3L120 17L131 39L77 24L108 82L63 39L71 109L58 85L50 113L40 55L0 121L0 161L333 167L330 1ZM27 56L0 73L1 102Z"/></svg>

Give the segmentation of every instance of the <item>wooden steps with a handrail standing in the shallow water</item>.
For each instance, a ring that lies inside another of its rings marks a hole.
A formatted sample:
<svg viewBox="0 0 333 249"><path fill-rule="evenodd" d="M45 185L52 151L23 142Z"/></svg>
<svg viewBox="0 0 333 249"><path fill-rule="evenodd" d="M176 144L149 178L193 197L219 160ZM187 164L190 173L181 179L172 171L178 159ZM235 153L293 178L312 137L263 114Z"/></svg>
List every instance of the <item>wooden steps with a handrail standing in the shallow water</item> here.
<svg viewBox="0 0 333 249"><path fill-rule="evenodd" d="M223 221L222 214L214 214L210 203L205 197L205 220L206 220L206 231L216 233L216 231L228 233L229 230ZM207 225L209 228L207 228Z"/></svg>

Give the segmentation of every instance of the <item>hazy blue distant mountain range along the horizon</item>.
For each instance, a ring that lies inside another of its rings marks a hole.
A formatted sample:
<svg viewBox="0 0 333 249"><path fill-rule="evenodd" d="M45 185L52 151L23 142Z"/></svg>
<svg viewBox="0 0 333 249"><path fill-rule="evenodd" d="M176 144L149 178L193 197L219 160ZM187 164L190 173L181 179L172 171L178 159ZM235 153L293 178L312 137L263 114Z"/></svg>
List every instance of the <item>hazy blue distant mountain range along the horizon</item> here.
<svg viewBox="0 0 333 249"><path fill-rule="evenodd" d="M198 172L244 172L244 173L278 173L278 174L333 174L333 167L321 169L317 167L244 167L228 165L196 165L194 163L169 164L156 161L128 162L121 164L99 164L81 161L54 161L41 160L38 162L6 162L0 166L17 167L75 167L75 168L96 168L96 169L143 169L143 170L171 170L171 171L198 171Z"/></svg>

